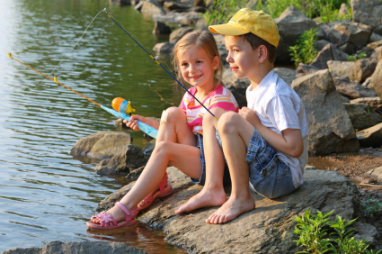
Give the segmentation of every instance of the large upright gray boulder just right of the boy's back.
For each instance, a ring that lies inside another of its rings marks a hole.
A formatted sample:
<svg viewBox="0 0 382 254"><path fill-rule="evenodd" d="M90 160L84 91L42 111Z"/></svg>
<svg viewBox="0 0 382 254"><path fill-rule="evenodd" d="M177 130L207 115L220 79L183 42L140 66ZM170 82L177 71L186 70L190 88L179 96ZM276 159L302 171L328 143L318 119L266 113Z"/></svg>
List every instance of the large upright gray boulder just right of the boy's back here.
<svg viewBox="0 0 382 254"><path fill-rule="evenodd" d="M305 105L310 155L359 150L351 119L328 69L299 77L292 88Z"/></svg>

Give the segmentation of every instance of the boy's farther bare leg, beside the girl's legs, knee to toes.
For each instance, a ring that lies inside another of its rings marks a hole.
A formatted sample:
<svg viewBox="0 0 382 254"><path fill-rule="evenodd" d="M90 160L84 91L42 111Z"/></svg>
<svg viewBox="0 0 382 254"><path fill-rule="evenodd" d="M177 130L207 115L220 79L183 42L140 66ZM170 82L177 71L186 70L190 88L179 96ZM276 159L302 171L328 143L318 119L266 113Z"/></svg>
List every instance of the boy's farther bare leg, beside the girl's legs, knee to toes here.
<svg viewBox="0 0 382 254"><path fill-rule="evenodd" d="M222 108L211 110L218 118L225 111ZM175 213L190 212L205 206L220 206L227 201L223 188L225 161L216 138L218 121L209 113L203 118L203 147L206 160L206 182L197 195L192 196L186 204L182 204Z"/></svg>

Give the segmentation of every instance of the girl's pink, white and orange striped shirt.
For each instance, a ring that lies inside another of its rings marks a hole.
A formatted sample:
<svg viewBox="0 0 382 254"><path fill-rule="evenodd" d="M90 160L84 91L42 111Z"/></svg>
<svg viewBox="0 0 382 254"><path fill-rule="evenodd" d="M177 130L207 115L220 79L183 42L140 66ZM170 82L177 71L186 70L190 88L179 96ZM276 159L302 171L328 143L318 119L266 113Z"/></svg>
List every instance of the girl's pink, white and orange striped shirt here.
<svg viewBox="0 0 382 254"><path fill-rule="evenodd" d="M191 87L189 90L192 95L196 94L196 87ZM214 90L212 90L207 98L202 102L209 110L214 107L220 107L225 111L235 111L238 112L239 106L236 103L234 95L222 84L218 85ZM203 116L208 113L207 110L200 104L195 105L195 99L186 93L180 105L182 111L187 115L187 123L191 131L196 134L200 133L203 135Z"/></svg>

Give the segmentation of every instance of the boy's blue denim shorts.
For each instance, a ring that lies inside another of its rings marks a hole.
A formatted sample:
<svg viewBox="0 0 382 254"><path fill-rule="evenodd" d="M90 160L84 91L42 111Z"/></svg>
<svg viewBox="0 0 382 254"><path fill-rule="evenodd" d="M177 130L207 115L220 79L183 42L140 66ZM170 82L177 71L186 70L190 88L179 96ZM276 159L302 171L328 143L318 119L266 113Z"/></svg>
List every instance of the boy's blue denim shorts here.
<svg viewBox="0 0 382 254"><path fill-rule="evenodd" d="M217 138L221 145L219 133ZM233 148L235 149L235 148ZM295 191L290 168L276 155L273 149L256 129L248 145L246 162L249 166L249 182L260 195L276 198Z"/></svg>

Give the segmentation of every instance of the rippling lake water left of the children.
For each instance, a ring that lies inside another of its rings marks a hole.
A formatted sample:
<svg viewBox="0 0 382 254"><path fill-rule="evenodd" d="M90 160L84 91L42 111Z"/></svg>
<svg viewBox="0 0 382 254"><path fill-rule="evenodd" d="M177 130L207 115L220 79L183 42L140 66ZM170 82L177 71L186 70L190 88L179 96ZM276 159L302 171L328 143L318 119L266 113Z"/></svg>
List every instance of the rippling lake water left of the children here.
<svg viewBox="0 0 382 254"><path fill-rule="evenodd" d="M104 7L147 50L161 42L151 32L154 22L133 7L104 0L0 0L0 5L0 252L51 240L116 240L149 253L182 253L145 224L88 230L85 222L95 206L127 182L98 176L98 161L74 159L69 150L94 132L121 132L115 117L7 56L11 52L48 75ZM99 104L127 98L145 116L159 117L169 106L153 90L174 104L182 97L171 77L103 13L52 76ZM141 147L147 142L141 132L133 137Z"/></svg>

